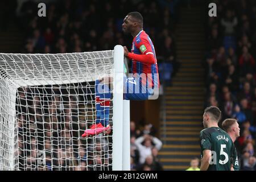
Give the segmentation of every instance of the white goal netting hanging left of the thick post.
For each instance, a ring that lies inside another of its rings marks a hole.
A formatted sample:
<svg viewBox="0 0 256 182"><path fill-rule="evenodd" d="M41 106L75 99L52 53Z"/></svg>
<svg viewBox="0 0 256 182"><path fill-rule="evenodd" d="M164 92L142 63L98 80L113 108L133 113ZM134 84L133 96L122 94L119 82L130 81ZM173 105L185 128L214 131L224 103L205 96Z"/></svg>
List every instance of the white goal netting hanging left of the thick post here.
<svg viewBox="0 0 256 182"><path fill-rule="evenodd" d="M112 135L81 134L113 64L113 51L0 53L0 170L112 169Z"/></svg>

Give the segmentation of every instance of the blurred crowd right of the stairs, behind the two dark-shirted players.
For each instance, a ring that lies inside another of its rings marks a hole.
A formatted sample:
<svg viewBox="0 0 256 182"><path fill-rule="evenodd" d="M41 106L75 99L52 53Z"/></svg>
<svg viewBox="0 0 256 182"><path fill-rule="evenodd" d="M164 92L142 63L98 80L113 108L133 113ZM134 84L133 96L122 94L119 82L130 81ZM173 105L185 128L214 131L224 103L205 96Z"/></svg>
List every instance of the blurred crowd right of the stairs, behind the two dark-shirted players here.
<svg viewBox="0 0 256 182"><path fill-rule="evenodd" d="M218 106L222 121L236 118L241 170L255 170L256 137L256 1L208 1L217 4L217 17L208 17L205 107ZM221 125L220 125L221 126Z"/></svg>

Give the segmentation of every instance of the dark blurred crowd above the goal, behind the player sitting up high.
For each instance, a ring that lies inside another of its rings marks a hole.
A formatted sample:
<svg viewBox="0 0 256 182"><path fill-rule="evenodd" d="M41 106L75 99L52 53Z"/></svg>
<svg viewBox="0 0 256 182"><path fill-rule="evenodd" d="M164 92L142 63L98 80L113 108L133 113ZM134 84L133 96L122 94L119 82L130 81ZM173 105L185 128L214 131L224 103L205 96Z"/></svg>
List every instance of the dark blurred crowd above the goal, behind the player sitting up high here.
<svg viewBox="0 0 256 182"><path fill-rule="evenodd" d="M154 43L160 78L170 83L179 67L174 40L179 20L177 0L53 1L47 16L38 17L35 2L19 9L18 22L24 32L22 53L66 53L113 49L120 44L131 49L132 36L122 33L122 23L130 11L143 15L144 31ZM162 17L162 18L159 18ZM168 69L166 69L168 68Z"/></svg>

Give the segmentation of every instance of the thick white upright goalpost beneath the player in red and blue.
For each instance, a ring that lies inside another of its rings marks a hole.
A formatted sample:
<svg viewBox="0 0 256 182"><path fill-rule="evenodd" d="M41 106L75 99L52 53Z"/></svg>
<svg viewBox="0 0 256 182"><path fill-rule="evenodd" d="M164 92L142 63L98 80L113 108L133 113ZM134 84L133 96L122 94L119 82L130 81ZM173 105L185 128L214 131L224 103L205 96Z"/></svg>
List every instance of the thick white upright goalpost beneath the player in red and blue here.
<svg viewBox="0 0 256 182"><path fill-rule="evenodd" d="M114 47L113 171L130 170L130 101L123 100L123 47Z"/></svg>

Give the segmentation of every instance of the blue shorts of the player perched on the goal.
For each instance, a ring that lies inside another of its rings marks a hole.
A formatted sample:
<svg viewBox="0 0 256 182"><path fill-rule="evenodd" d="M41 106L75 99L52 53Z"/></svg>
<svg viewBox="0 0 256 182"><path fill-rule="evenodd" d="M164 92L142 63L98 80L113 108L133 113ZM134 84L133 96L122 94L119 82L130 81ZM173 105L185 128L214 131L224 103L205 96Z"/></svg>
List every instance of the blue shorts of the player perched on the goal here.
<svg viewBox="0 0 256 182"><path fill-rule="evenodd" d="M136 100L143 101L154 95L152 88L147 88L143 85L140 78L135 77L123 77L123 99L124 100Z"/></svg>

